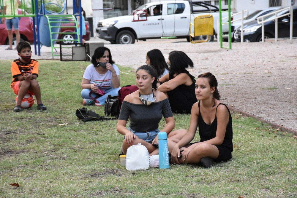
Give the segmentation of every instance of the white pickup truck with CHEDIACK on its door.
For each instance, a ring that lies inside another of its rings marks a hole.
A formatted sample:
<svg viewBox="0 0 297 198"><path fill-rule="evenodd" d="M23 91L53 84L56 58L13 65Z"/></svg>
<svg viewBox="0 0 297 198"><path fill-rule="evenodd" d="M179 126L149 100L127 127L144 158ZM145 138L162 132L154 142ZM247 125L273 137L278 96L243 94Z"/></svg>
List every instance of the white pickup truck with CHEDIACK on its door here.
<svg viewBox="0 0 297 198"><path fill-rule="evenodd" d="M187 38L189 42L190 22L193 23L195 16L206 14L213 15L214 35L217 35L219 8L202 1L191 0L147 3L137 8L131 15L99 21L96 31L100 39L110 41L112 44L133 44L135 39L145 41L161 37ZM222 18L226 16L228 12L222 12ZM223 21L227 22L228 19ZM228 33L228 25L223 25L222 30L223 33ZM207 36L195 38L206 39ZM214 36L211 36L208 41L213 40Z"/></svg>

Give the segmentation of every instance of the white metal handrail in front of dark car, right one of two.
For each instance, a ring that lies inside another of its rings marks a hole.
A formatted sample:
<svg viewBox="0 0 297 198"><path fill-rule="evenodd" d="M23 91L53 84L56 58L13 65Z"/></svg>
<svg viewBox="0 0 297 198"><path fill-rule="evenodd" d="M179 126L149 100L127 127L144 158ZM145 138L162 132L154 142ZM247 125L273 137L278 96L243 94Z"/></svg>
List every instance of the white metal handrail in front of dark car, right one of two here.
<svg viewBox="0 0 297 198"><path fill-rule="evenodd" d="M288 10L289 12L286 13L286 14L277 16L277 14L279 12L282 12L284 10ZM264 20L265 17L271 16L271 15L275 15L275 17L271 17L269 19ZM269 12L268 14L260 16L260 17L257 18L257 23L259 25L262 25L262 42L265 41L265 39L264 39L264 37L265 37L265 31L264 31L264 26L265 25L264 25L264 23L275 19L275 41L277 41L277 37L278 37L278 18L285 17L285 16L288 16L288 15L290 15L290 40L292 40L292 38L293 38L293 8L292 7L286 7L286 8L274 11L274 12Z"/></svg>

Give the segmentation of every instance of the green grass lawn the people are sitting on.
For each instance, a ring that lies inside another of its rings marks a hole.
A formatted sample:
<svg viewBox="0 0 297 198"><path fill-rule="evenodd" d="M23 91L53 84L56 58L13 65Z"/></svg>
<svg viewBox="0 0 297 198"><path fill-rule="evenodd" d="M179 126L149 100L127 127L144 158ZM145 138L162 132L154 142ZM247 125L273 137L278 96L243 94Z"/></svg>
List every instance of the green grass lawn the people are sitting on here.
<svg viewBox="0 0 297 198"><path fill-rule="evenodd" d="M80 83L89 63L39 63L48 110L38 111L35 103L15 113L11 60L1 60L0 197L297 197L296 137L234 113L232 160L210 169L126 170L120 165L117 121L83 123L75 116L83 107ZM121 86L135 84L131 68L119 69ZM88 108L104 115L104 107ZM189 115L174 118L175 129L187 129Z"/></svg>

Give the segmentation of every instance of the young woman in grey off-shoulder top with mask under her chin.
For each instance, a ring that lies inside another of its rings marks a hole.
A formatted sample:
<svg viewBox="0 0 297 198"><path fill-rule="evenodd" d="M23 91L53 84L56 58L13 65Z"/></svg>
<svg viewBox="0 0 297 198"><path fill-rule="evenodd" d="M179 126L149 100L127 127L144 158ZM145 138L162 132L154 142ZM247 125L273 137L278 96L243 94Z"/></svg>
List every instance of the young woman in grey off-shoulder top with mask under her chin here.
<svg viewBox="0 0 297 198"><path fill-rule="evenodd" d="M151 65L143 65L137 69L136 85L139 90L124 98L116 126L117 131L124 135L121 152L126 154L128 147L141 143L152 155L151 153L157 150L155 145L158 145L160 131L166 132L168 137L175 140L180 140L184 134L171 132L175 127L173 114L166 95L156 90L157 73ZM162 117L166 124L159 130ZM127 129L129 118L130 124Z"/></svg>

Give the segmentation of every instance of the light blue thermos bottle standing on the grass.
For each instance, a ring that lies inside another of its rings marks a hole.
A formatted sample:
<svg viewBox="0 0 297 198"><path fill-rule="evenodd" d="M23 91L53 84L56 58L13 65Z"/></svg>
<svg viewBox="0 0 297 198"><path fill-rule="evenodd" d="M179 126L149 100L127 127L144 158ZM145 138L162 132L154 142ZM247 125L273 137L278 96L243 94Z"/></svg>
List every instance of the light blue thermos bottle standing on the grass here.
<svg viewBox="0 0 297 198"><path fill-rule="evenodd" d="M159 132L159 163L160 168L169 168L169 154L168 154L168 142L167 133Z"/></svg>

